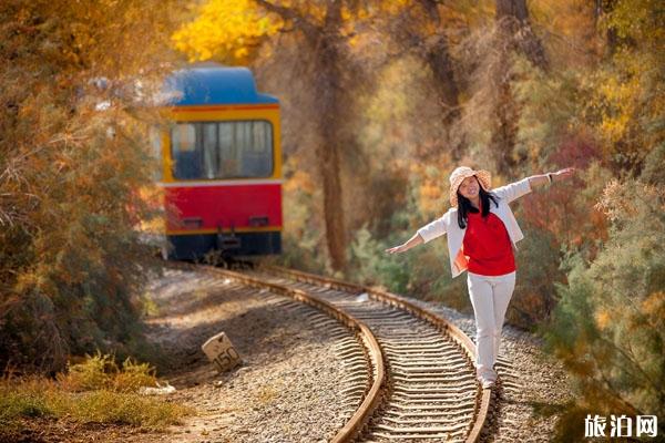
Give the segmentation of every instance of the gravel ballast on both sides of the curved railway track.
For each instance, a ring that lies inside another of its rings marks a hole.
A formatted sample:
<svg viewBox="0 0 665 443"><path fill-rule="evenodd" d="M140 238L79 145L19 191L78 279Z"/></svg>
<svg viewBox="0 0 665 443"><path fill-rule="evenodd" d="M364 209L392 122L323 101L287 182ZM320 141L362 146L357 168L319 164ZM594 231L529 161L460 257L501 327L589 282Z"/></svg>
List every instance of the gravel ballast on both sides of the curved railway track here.
<svg viewBox="0 0 665 443"><path fill-rule="evenodd" d="M288 308L279 302L284 297L197 271L168 271L151 292L158 315L150 320L150 337L170 356L166 378L177 390L172 400L196 408L198 415L144 441L323 442L348 419L339 396L345 368L335 353L337 339L310 321L311 308ZM475 340L472 316L407 299ZM221 331L244 360L224 374L200 348ZM570 398L561 364L543 354L538 338L510 326L503 328L499 360L501 406L484 441L549 441L556 418L535 411Z"/></svg>

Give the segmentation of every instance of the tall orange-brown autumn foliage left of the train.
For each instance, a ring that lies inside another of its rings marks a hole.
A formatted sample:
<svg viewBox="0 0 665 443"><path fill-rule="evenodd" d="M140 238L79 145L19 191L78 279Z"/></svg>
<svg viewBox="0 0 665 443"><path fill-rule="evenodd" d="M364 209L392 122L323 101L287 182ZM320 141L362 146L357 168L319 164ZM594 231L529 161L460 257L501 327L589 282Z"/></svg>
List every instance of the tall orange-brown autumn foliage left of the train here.
<svg viewBox="0 0 665 443"><path fill-rule="evenodd" d="M141 97L168 69L160 1L0 7L0 365L132 350L154 159ZM140 43L140 44L137 44ZM154 87L153 87L154 86Z"/></svg>

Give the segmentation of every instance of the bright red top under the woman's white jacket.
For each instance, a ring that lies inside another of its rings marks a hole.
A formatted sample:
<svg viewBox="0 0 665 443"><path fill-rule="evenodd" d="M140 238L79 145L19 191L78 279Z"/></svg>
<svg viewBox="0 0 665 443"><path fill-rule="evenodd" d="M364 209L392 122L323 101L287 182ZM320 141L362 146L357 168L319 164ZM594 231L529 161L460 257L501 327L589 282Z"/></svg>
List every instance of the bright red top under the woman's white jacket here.
<svg viewBox="0 0 665 443"><path fill-rule="evenodd" d="M512 243L501 218L489 213L469 213L462 250L469 260L468 270L481 276L501 276L515 270Z"/></svg>

